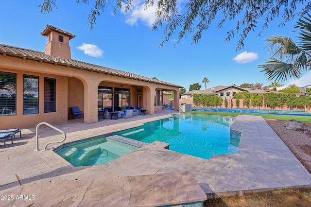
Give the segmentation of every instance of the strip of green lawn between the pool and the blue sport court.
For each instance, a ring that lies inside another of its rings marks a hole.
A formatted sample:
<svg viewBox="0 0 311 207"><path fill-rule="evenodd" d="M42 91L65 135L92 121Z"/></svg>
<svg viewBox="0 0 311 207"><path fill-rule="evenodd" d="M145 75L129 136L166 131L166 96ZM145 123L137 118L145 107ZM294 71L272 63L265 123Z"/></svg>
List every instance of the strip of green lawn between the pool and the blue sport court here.
<svg viewBox="0 0 311 207"><path fill-rule="evenodd" d="M187 114L204 114L204 115L216 115L216 116L229 116L235 117L239 114L231 113L231 112L211 112L211 111L188 111L185 112ZM272 115L272 114L248 114L241 113L242 115L251 115L251 116L261 116L263 119L273 119L273 120L282 120L282 121L290 121L296 120L301 122L311 122L311 117L304 116L288 116L288 115Z"/></svg>

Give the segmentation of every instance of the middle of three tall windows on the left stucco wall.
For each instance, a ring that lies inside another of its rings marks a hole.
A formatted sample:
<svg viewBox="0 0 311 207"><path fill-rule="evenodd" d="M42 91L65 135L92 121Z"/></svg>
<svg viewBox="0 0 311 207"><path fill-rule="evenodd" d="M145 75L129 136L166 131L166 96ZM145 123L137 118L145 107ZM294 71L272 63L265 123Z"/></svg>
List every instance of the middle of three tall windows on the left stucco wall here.
<svg viewBox="0 0 311 207"><path fill-rule="evenodd" d="M24 114L39 113L39 77L24 75Z"/></svg>

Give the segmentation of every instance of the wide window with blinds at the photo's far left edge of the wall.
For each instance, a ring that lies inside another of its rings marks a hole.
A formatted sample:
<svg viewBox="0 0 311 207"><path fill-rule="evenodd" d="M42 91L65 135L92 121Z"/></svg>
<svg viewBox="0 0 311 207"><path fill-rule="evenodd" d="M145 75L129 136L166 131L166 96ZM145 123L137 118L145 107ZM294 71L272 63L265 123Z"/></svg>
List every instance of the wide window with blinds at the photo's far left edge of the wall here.
<svg viewBox="0 0 311 207"><path fill-rule="evenodd" d="M16 74L0 72L0 116L16 115Z"/></svg>

